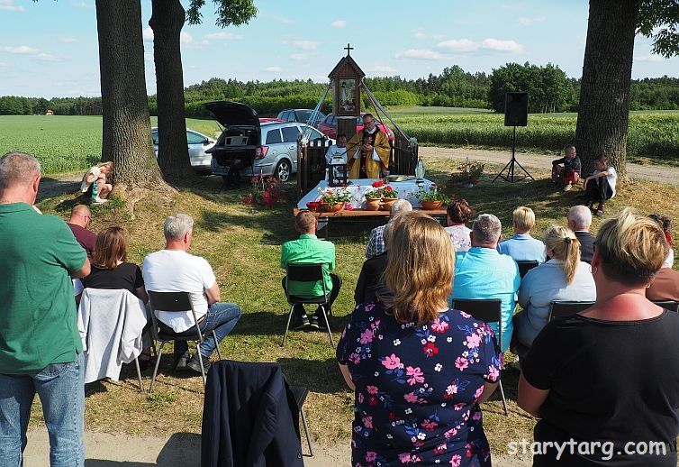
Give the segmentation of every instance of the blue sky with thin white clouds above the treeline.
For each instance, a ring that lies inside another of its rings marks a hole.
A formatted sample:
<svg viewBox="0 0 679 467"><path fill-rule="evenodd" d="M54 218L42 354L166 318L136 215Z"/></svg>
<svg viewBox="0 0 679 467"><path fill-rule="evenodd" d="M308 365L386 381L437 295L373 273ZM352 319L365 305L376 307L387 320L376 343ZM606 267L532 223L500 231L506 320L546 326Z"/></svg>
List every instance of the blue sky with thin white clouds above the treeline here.
<svg viewBox="0 0 679 467"><path fill-rule="evenodd" d="M456 64L491 72L530 61L579 77L588 15L584 0L255 0L257 18L221 29L206 4L203 24L182 34L186 85L212 77L325 81L347 42L368 76L426 77ZM141 5L153 94L150 0ZM633 77L679 76L679 58L652 55L650 45L637 38ZM94 0L0 0L0 96L99 94Z"/></svg>

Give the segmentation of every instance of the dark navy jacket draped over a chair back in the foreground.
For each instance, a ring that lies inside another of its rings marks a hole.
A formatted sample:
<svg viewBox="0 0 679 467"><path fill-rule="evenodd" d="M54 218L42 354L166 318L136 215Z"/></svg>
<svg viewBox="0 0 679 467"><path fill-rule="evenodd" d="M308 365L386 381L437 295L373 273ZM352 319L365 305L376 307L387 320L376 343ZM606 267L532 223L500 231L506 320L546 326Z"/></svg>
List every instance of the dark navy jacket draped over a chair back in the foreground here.
<svg viewBox="0 0 679 467"><path fill-rule="evenodd" d="M299 409L280 365L214 362L205 386L201 466L303 465Z"/></svg>

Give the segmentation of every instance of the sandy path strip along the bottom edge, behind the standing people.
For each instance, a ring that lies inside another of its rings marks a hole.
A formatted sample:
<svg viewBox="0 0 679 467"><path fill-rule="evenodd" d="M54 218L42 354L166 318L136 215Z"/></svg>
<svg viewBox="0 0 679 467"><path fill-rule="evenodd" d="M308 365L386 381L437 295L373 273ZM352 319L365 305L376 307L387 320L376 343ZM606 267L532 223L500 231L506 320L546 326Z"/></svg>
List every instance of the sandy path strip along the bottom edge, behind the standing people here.
<svg viewBox="0 0 679 467"><path fill-rule="evenodd" d="M200 435L177 433L167 437L110 435L86 432L85 467L199 467ZM303 445L303 452L308 448ZM304 457L307 467L341 467L350 464L349 442L341 446L314 446L313 458ZM28 433L24 467L50 464L50 441L44 427ZM529 458L493 454L495 467L530 467Z"/></svg>

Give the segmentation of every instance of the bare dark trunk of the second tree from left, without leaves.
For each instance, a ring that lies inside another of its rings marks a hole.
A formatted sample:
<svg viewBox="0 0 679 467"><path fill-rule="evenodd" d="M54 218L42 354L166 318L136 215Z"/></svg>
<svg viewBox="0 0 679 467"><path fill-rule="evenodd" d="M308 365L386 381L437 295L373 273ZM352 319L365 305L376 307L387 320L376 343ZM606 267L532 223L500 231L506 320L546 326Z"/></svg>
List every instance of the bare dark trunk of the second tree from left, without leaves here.
<svg viewBox="0 0 679 467"><path fill-rule="evenodd" d="M184 113L184 76L179 36L186 12L179 0L153 0L153 60L158 87L158 165L166 179L192 178Z"/></svg>

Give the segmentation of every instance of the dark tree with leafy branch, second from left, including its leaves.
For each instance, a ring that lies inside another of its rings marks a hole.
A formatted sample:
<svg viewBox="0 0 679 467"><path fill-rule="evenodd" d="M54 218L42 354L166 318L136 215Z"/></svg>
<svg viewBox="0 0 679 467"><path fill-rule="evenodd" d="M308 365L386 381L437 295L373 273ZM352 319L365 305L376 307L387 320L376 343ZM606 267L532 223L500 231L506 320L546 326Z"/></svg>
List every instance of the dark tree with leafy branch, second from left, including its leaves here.
<svg viewBox="0 0 679 467"><path fill-rule="evenodd" d="M214 0L217 25L248 23L257 14L253 0ZM204 0L191 0L188 14L179 0L152 0L149 26L153 30L153 60L156 64L158 98L158 164L166 179L193 176L186 144L184 76L180 36L185 18L202 21Z"/></svg>

